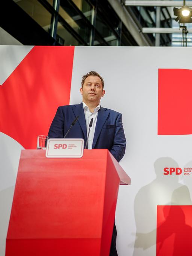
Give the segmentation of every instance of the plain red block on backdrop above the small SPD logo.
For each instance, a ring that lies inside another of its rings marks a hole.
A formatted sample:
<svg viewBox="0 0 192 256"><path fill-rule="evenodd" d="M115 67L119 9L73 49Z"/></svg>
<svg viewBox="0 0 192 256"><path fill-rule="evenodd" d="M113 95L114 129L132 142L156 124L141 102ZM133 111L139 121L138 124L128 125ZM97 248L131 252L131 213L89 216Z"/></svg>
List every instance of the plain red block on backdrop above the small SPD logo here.
<svg viewBox="0 0 192 256"><path fill-rule="evenodd" d="M192 134L192 70L159 69L158 135Z"/></svg>

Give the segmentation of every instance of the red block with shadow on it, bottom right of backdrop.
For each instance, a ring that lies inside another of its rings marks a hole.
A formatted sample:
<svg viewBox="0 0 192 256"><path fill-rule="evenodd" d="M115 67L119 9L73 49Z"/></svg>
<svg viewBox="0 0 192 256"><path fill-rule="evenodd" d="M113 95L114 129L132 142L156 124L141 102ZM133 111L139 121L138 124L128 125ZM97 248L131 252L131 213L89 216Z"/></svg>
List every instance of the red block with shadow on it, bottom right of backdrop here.
<svg viewBox="0 0 192 256"><path fill-rule="evenodd" d="M192 205L157 205L157 256L192 255Z"/></svg>

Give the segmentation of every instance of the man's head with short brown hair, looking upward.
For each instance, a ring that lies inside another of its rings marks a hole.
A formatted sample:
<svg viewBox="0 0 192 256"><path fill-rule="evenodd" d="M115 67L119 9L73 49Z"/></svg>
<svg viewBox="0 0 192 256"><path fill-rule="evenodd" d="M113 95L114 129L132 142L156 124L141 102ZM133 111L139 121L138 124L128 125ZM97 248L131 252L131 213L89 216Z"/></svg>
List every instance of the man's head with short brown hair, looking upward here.
<svg viewBox="0 0 192 256"><path fill-rule="evenodd" d="M101 97L105 94L100 77L88 76L83 83L83 88L80 88L80 93L83 95L83 102L99 104Z"/></svg>

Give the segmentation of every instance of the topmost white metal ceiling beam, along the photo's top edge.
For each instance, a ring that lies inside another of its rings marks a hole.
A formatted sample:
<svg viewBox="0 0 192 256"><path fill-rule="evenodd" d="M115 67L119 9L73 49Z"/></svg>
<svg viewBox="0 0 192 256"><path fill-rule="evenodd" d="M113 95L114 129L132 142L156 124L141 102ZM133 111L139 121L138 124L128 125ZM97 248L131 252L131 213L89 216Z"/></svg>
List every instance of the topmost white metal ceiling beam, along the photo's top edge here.
<svg viewBox="0 0 192 256"><path fill-rule="evenodd" d="M183 6L183 1L170 0L125 0L126 6ZM192 6L192 1L185 1L185 5Z"/></svg>

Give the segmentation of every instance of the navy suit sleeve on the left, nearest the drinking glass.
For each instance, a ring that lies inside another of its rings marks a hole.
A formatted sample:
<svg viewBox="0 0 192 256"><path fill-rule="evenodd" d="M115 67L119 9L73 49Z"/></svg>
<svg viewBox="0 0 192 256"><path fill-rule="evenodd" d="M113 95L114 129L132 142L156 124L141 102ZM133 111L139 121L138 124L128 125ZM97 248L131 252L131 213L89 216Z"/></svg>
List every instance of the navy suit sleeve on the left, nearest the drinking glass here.
<svg viewBox="0 0 192 256"><path fill-rule="evenodd" d="M64 115L61 107L58 107L52 124L49 128L49 138L63 138L64 134Z"/></svg>

